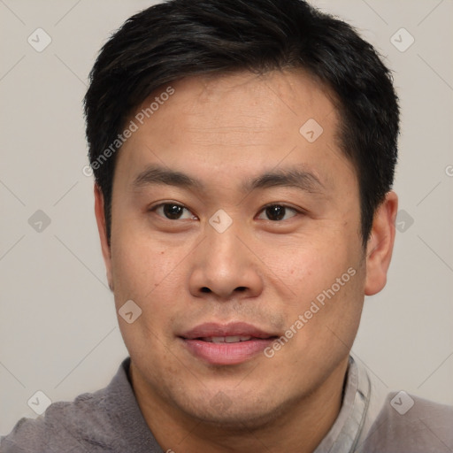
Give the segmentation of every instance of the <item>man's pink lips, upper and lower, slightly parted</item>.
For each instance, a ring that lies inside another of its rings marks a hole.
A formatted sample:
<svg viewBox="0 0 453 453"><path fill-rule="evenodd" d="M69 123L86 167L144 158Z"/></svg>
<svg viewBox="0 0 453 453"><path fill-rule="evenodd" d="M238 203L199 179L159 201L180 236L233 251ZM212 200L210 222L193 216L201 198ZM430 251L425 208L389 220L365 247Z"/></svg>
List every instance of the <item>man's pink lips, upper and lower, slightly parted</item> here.
<svg viewBox="0 0 453 453"><path fill-rule="evenodd" d="M211 365L238 365L256 357L269 346L277 334L265 332L244 322L225 325L204 323L180 334L180 340L189 353ZM206 337L250 336L250 340L234 343L203 341Z"/></svg>

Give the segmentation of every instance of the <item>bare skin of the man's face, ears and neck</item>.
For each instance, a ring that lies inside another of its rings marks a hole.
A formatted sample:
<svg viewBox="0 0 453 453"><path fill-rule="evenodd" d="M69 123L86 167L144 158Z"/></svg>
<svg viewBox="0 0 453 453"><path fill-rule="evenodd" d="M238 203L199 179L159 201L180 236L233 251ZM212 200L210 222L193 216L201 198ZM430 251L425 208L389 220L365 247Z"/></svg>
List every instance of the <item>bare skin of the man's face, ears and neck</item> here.
<svg viewBox="0 0 453 453"><path fill-rule="evenodd" d="M389 192L376 211L364 250L357 173L336 139L333 96L302 71L196 76L172 87L119 151L111 247L95 186L117 311L129 299L142 309L132 324L119 317L137 401L164 451L313 451L341 407L364 297L386 284L397 197ZM299 133L307 119L324 129L315 142ZM153 164L204 188L134 188ZM320 184L242 191L243 181L288 168ZM164 202L186 208L180 219L151 211ZM288 206L283 219L266 214L269 204ZM209 223L219 209L233 222L223 233ZM272 358L210 365L178 336L230 321L284 334L349 268L355 275Z"/></svg>

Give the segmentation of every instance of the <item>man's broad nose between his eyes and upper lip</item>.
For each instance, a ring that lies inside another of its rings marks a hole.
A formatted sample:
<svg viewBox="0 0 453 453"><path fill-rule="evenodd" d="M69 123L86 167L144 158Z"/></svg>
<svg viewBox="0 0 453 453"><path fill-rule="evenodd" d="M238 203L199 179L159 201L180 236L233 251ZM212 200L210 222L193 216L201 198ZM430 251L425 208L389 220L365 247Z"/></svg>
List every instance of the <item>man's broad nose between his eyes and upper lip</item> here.
<svg viewBox="0 0 453 453"><path fill-rule="evenodd" d="M206 236L193 252L190 293L222 301L259 296L263 279L253 244L234 224L223 233L207 225Z"/></svg>

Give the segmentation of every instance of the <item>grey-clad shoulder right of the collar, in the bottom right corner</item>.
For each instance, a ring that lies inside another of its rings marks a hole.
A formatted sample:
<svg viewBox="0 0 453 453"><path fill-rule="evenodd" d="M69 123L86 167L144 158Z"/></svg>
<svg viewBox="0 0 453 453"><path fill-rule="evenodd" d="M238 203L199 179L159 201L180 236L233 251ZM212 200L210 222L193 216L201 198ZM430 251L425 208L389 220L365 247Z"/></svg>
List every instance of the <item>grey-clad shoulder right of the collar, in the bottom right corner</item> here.
<svg viewBox="0 0 453 453"><path fill-rule="evenodd" d="M453 406L403 391L388 394L366 435L366 452L453 451Z"/></svg>

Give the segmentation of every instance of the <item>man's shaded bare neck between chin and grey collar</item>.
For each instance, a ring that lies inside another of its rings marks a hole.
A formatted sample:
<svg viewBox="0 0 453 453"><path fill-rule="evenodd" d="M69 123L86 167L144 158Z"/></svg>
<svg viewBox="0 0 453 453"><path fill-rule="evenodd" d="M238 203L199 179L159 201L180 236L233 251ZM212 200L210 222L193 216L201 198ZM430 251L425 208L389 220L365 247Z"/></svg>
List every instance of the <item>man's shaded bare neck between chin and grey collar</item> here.
<svg viewBox="0 0 453 453"><path fill-rule="evenodd" d="M131 362L130 377L146 423L164 451L311 453L326 436L342 406L346 357L311 395L286 403L272 420L253 427L226 427L191 418L155 393ZM164 448L165 447L165 448Z"/></svg>

